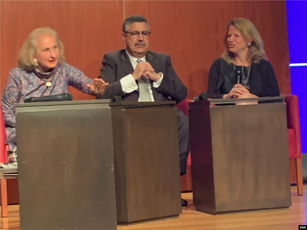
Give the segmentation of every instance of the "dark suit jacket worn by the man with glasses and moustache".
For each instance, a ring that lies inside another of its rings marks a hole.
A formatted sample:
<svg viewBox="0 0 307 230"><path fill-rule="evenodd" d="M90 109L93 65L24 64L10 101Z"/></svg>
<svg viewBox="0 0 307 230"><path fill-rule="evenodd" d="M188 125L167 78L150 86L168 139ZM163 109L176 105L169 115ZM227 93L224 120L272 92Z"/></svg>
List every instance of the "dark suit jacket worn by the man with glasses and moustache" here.
<svg viewBox="0 0 307 230"><path fill-rule="evenodd" d="M173 69L170 56L163 53L148 51L146 61L151 64L156 73L163 73L161 85L153 87L153 80L150 80L153 98L155 101L174 100L181 102L187 97L187 87L181 82ZM139 91L134 90L129 94L122 91L120 79L134 72L133 66L125 49L106 53L103 56L100 77L109 85L99 99L111 99L114 96L121 96L123 101L138 101ZM138 81L136 81L138 84Z"/></svg>

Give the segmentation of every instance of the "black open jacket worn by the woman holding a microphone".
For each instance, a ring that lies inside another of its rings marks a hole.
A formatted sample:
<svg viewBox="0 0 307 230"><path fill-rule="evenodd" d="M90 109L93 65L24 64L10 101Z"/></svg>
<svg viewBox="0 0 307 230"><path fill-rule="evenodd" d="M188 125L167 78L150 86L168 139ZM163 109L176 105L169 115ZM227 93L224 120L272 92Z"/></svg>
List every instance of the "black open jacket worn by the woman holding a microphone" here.
<svg viewBox="0 0 307 230"><path fill-rule="evenodd" d="M278 83L270 62L261 59L259 63L251 64L250 93L258 97L279 96ZM215 59L208 76L207 93L209 98L223 98L228 94L235 82L235 69L233 64L227 64L223 58Z"/></svg>

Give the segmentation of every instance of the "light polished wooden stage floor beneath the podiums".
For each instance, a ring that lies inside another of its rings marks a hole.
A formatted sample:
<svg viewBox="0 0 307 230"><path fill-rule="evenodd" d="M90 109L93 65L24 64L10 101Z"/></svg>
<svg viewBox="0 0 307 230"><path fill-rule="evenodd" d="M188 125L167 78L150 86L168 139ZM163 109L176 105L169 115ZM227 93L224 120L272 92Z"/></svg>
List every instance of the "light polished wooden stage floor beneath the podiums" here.
<svg viewBox="0 0 307 230"><path fill-rule="evenodd" d="M192 193L182 194L188 199L188 207L183 208L178 219L118 226L118 230L297 230L299 224L305 224L307 219L307 185L304 185L304 195L297 196L296 187L291 187L292 206L289 210L266 211L256 213L241 213L213 216L195 211L192 205ZM9 217L1 218L0 229L20 230L19 206L9 206Z"/></svg>

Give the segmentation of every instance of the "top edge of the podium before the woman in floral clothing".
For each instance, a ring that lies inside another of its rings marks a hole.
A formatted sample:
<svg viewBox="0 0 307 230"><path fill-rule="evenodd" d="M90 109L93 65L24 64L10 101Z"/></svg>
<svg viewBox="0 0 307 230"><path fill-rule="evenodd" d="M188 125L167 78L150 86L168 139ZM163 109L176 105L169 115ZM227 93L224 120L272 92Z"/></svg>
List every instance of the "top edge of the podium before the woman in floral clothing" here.
<svg viewBox="0 0 307 230"><path fill-rule="evenodd" d="M109 103L110 103L110 99L60 101L60 102L29 102L29 103L21 102L21 103L16 103L15 107L50 106L50 105L109 104Z"/></svg>

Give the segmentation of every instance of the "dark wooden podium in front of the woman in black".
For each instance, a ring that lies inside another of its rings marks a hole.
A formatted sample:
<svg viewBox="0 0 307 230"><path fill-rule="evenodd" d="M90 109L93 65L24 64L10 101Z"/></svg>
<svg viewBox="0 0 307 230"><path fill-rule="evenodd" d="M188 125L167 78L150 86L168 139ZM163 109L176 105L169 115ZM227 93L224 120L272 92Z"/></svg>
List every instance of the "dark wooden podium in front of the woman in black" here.
<svg viewBox="0 0 307 230"><path fill-rule="evenodd" d="M283 97L189 103L193 205L223 214L291 205Z"/></svg>

